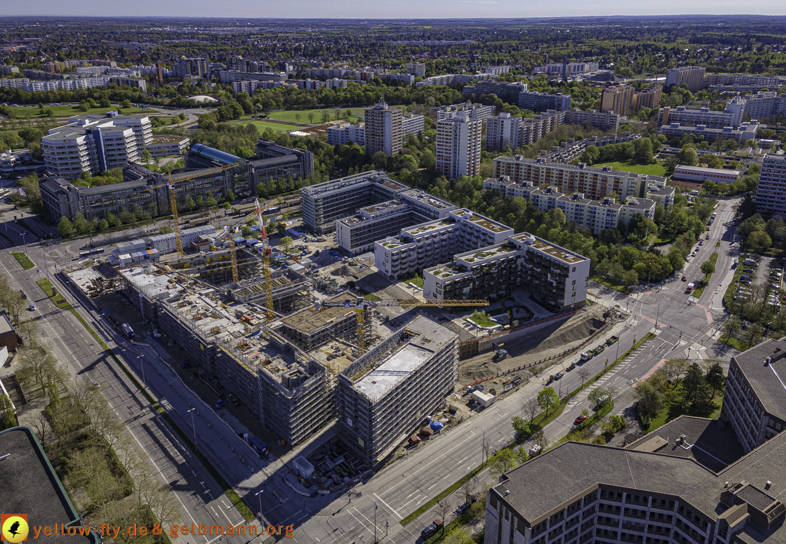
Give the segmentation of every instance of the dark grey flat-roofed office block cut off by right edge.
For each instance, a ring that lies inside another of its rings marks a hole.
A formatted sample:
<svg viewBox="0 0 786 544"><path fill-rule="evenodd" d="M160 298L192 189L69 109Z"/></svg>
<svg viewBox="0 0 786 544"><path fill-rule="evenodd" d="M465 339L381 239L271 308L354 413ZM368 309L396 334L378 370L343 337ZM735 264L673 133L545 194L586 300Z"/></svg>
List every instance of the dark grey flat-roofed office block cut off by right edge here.
<svg viewBox="0 0 786 544"><path fill-rule="evenodd" d="M743 449L755 450L786 429L786 340L766 340L729 364L719 420Z"/></svg>

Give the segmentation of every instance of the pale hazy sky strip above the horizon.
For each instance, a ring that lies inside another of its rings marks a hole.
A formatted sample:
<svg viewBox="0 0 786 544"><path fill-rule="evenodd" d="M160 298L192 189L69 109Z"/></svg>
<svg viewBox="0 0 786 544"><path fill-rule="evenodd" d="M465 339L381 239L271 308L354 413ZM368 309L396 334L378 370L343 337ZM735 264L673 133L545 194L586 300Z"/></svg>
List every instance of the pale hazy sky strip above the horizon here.
<svg viewBox="0 0 786 544"><path fill-rule="evenodd" d="M472 18L750 13L786 15L784 0L0 0L5 15L164 17Z"/></svg>

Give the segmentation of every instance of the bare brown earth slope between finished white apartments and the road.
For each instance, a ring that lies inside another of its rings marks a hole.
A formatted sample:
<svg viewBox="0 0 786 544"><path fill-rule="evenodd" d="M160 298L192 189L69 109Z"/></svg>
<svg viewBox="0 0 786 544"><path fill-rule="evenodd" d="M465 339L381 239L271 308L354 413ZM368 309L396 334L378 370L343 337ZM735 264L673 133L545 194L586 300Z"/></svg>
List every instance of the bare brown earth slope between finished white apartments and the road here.
<svg viewBox="0 0 786 544"><path fill-rule="evenodd" d="M604 325L603 308L582 311L564 322L505 342L508 357L495 362L494 352L484 353L459 363L459 382L467 384L483 377L506 372L518 366L557 355L582 344ZM555 359L556 361L556 359Z"/></svg>

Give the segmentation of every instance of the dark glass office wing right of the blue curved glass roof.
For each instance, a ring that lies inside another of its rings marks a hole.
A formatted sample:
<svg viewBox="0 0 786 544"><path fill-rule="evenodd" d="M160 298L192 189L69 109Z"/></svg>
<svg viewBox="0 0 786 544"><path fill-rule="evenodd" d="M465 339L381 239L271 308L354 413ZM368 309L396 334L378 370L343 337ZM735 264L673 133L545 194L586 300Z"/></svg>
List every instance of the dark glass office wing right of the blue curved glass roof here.
<svg viewBox="0 0 786 544"><path fill-rule="evenodd" d="M314 174L314 153L308 149L290 149L259 138L256 155L246 160L248 185L252 193L256 186L283 178L305 179Z"/></svg>

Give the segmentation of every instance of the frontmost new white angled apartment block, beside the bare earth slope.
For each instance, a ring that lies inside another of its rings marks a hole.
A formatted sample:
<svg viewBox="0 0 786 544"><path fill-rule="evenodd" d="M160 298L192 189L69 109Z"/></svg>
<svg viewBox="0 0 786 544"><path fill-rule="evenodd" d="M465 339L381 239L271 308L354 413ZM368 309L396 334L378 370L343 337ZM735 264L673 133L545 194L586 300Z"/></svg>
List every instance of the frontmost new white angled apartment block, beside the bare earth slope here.
<svg viewBox="0 0 786 544"><path fill-rule="evenodd" d="M423 296L462 300L505 296L526 289L557 311L586 302L589 259L530 233L459 253L450 263L423 270Z"/></svg>

